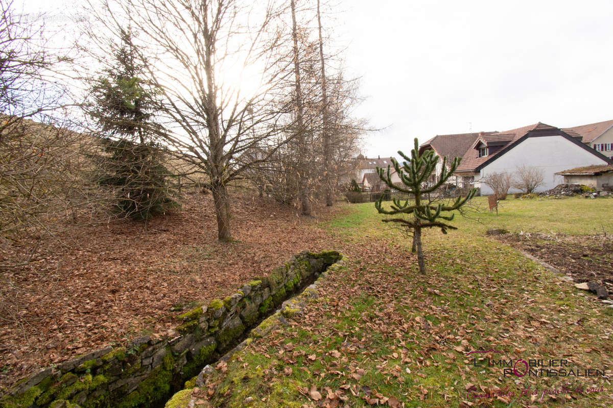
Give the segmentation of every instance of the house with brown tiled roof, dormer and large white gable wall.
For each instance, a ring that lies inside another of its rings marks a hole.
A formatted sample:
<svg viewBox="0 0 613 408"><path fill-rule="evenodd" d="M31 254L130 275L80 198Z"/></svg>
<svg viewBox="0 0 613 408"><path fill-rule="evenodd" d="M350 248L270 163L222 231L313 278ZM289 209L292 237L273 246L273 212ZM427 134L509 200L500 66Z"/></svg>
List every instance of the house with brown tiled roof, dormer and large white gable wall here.
<svg viewBox="0 0 613 408"><path fill-rule="evenodd" d="M544 184L538 188L544 191L562 183L562 176L556 172L570 167L613 163L582 143L581 135L574 130L563 132L541 122L506 132L439 135L422 144L420 152L427 149L435 150L449 161L462 157L462 163L448 181L459 187L479 187L482 195L493 193L481 180L494 172L512 174L520 166L535 166L544 172ZM436 177L440 176L441 167L442 160Z"/></svg>

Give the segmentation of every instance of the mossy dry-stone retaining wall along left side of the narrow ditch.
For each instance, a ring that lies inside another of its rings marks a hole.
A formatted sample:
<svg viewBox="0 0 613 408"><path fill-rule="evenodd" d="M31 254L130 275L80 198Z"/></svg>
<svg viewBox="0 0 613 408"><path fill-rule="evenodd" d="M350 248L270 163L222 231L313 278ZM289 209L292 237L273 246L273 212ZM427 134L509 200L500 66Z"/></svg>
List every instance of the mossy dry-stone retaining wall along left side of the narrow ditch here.
<svg viewBox="0 0 613 408"><path fill-rule="evenodd" d="M226 299L182 314L176 335L143 336L127 347L107 347L43 369L22 380L0 407L156 406L340 258L336 251L302 252Z"/></svg>

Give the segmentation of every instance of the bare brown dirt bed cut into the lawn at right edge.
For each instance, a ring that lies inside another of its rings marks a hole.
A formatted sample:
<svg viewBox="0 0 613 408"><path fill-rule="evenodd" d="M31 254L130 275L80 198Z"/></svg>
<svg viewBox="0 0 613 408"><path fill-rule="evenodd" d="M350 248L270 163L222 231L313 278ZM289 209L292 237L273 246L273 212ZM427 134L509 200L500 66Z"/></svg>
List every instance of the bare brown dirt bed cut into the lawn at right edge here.
<svg viewBox="0 0 613 408"><path fill-rule="evenodd" d="M613 237L505 234L497 237L514 248L573 276L576 282L595 281L613 294Z"/></svg>

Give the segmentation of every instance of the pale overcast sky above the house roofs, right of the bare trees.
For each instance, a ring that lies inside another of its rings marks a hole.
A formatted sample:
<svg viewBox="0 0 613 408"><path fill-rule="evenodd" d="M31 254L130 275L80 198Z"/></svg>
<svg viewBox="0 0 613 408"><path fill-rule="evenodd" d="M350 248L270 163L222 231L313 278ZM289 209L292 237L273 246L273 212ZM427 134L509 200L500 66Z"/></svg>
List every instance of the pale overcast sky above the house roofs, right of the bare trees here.
<svg viewBox="0 0 613 408"><path fill-rule="evenodd" d="M333 34L367 97L357 114L384 128L366 137L371 157L415 137L613 119L611 0L337 1ZM15 2L55 15L74 3Z"/></svg>

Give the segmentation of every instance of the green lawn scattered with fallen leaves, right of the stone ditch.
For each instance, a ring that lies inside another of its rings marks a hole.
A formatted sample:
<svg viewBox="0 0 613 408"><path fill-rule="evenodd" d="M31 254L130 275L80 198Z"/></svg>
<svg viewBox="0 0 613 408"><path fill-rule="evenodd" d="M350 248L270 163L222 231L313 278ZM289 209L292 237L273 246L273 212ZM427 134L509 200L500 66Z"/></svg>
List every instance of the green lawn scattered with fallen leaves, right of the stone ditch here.
<svg viewBox="0 0 613 408"><path fill-rule="evenodd" d="M252 343L211 378L211 402L317 406L314 386L319 404L326 401L321 406L343 405L333 393L346 406L395 406L386 398L406 407L611 406L611 310L484 236L491 226L585 234L603 224L611 232L603 216L611 209L611 199L509 200L498 217L482 214L485 224L459 219L461 229L447 236L428 231L429 274L421 276L409 242L380 222L372 204L352 206L327 224L349 255L346 266L326 278L323 297L303 316ZM475 367L475 354L466 355L490 348L503 351L492 358L565 358L569 368L606 369L607 377L503 377L500 367ZM481 394L515 395L476 398L471 385ZM544 390L562 386L604 391L539 401ZM527 388L538 397L519 395Z"/></svg>

